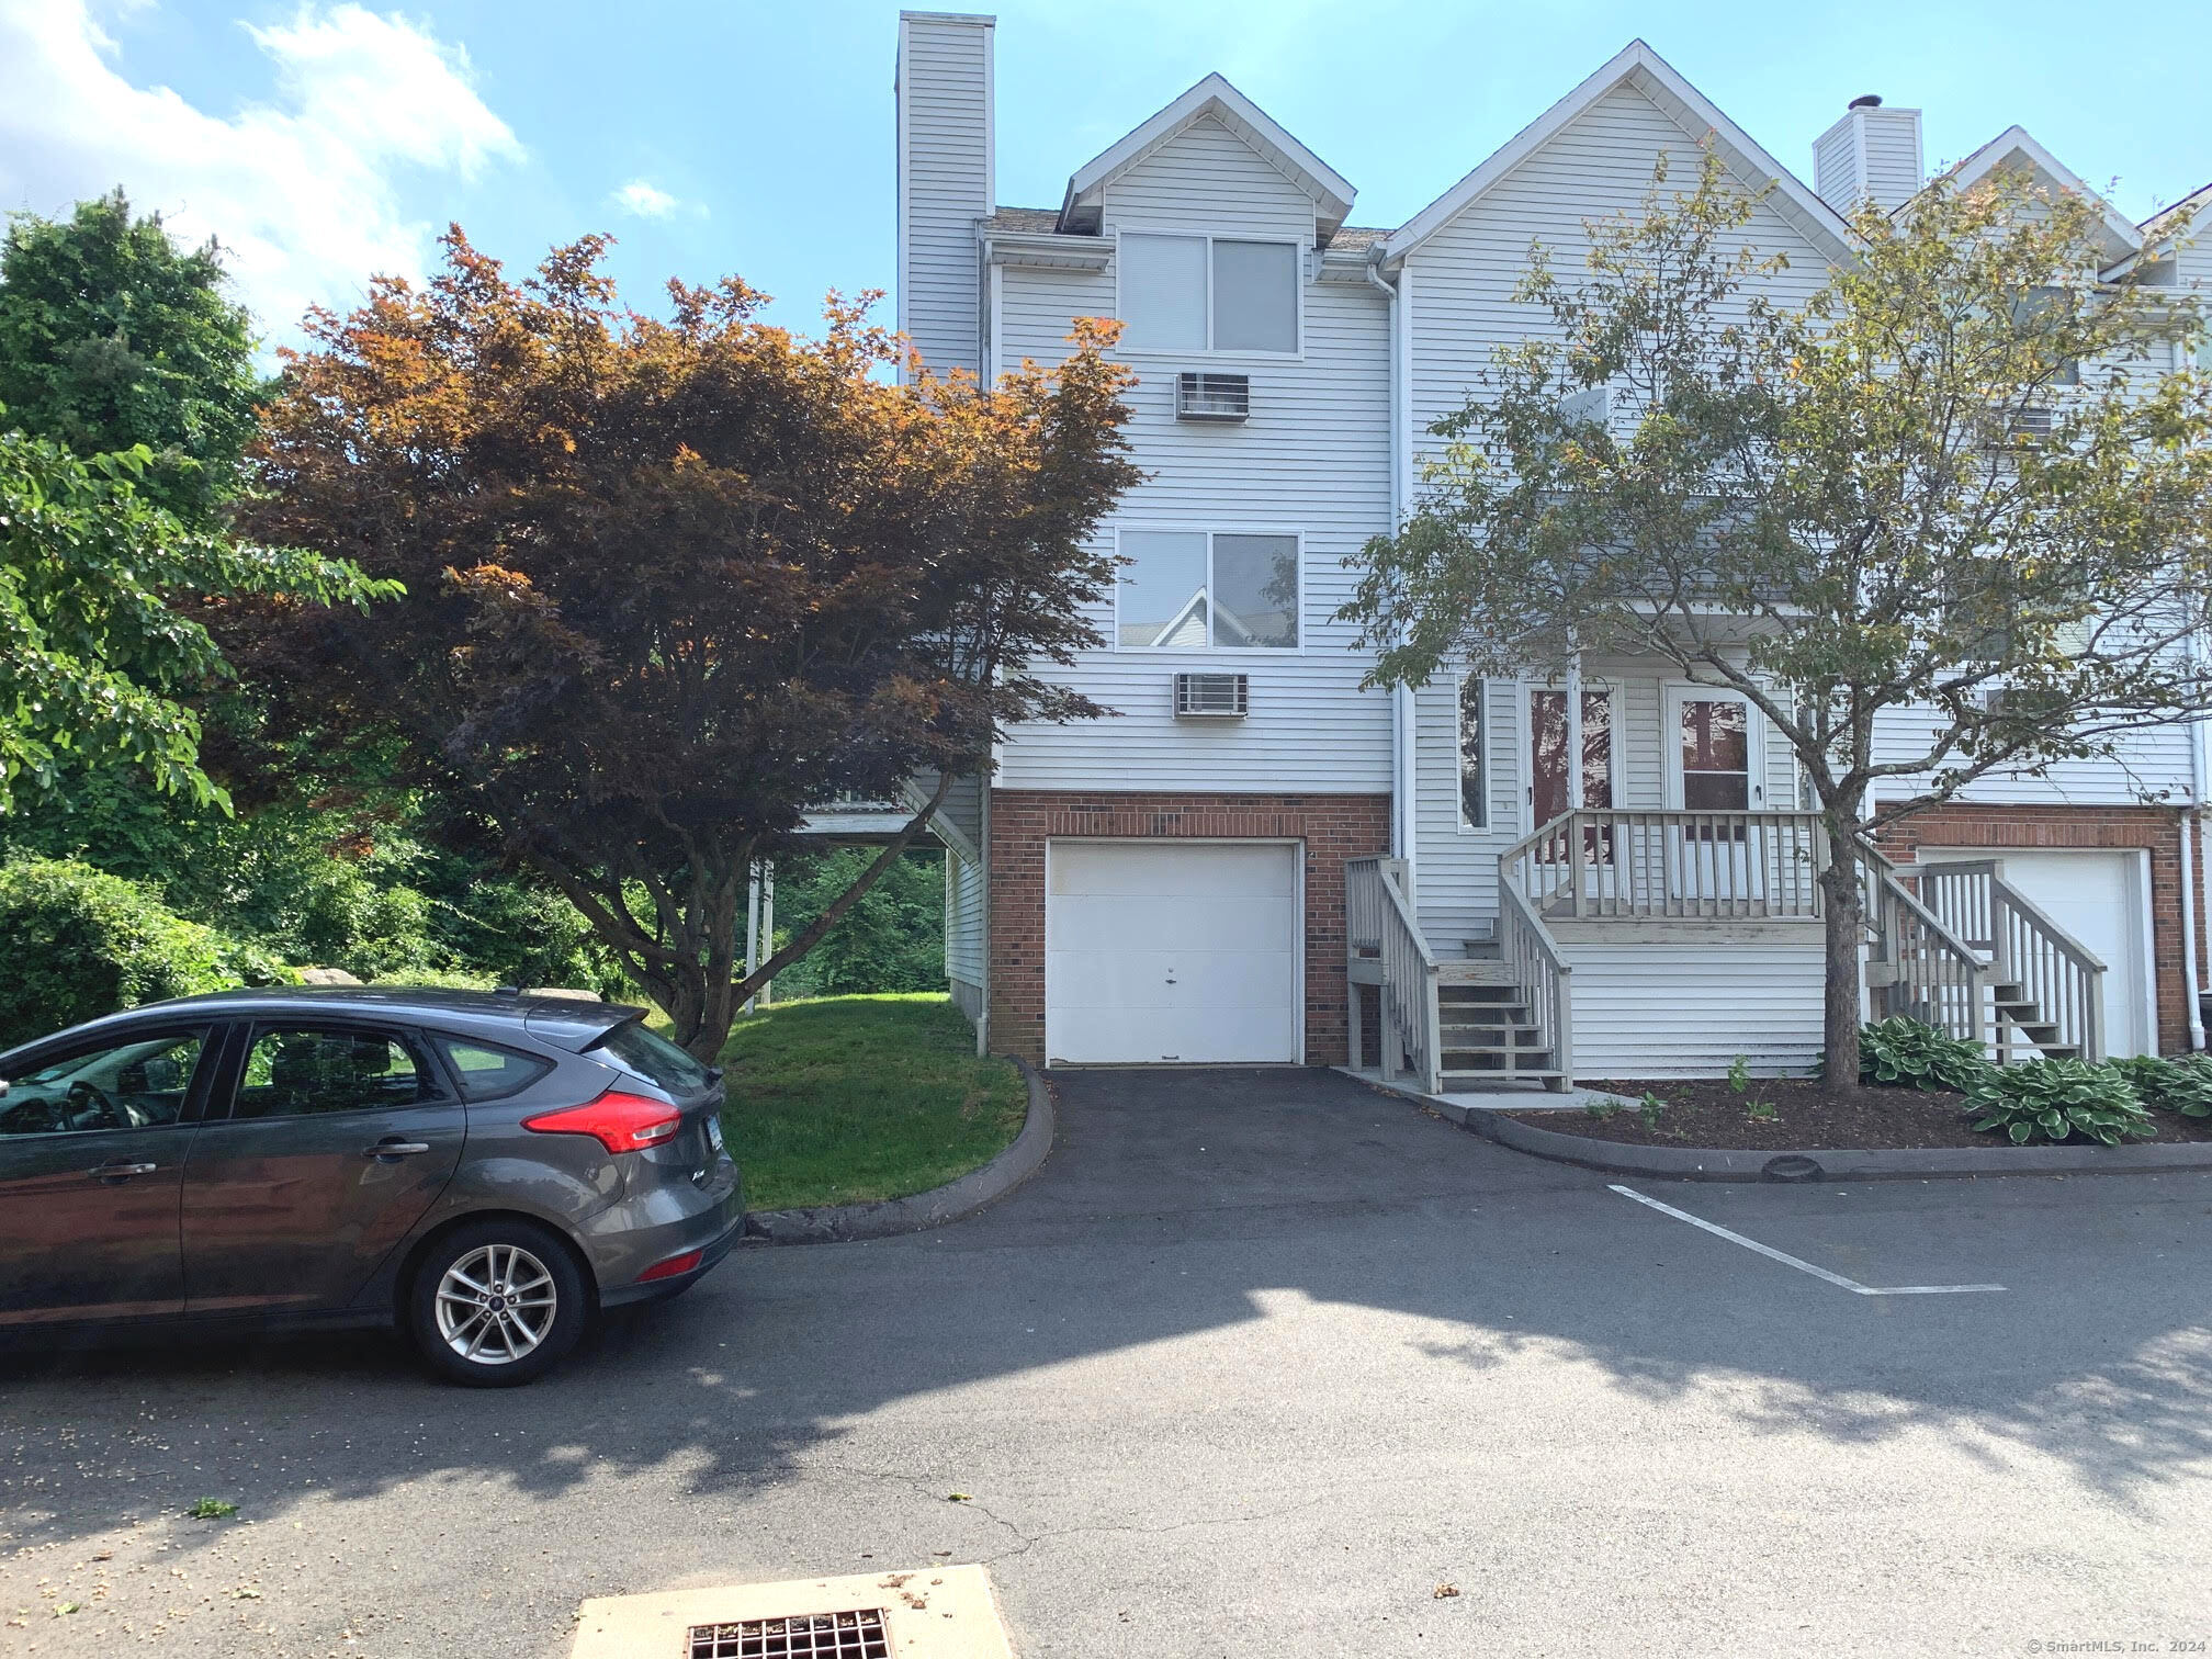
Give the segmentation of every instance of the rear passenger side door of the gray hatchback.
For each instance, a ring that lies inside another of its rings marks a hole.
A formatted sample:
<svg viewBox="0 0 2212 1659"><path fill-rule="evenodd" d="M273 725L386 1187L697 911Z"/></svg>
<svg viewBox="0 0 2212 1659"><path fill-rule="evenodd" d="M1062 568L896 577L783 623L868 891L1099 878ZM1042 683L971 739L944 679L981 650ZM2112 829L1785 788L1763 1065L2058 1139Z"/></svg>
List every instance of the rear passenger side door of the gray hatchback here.
<svg viewBox="0 0 2212 1659"><path fill-rule="evenodd" d="M467 1117L414 1033L272 1020L184 1172L186 1312L345 1307L460 1166Z"/></svg>

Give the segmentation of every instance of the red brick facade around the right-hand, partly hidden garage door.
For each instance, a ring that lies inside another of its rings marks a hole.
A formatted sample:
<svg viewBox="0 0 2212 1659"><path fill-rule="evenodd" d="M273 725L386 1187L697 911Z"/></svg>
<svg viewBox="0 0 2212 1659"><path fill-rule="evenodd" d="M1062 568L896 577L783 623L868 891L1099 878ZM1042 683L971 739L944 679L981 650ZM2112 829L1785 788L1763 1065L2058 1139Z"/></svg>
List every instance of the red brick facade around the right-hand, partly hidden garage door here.
<svg viewBox="0 0 2212 1659"><path fill-rule="evenodd" d="M2181 973L2181 818L2172 807L2002 807L1951 801L1880 830L1880 847L1907 860L1920 847L2064 849L2097 847L2150 852L2150 956L2157 969L2159 1053L2190 1046L2185 980ZM2192 854L2203 856L2203 827ZM2199 865L2201 872L2201 865ZM2197 960L2205 960L2203 907L2197 916ZM2199 984L2205 980L2199 978Z"/></svg>

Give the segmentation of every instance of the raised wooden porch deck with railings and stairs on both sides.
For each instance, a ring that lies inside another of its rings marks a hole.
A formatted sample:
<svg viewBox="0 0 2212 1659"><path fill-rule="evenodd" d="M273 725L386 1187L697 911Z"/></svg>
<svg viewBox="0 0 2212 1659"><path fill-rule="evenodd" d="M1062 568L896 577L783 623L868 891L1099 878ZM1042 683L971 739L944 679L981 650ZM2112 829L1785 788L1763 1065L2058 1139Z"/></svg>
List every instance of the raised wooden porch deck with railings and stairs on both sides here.
<svg viewBox="0 0 2212 1659"><path fill-rule="evenodd" d="M1352 1064L1427 1093L1506 1079L1568 1091L1577 956L1610 971L1584 1011L1595 1000L1615 1029L1650 1013L1604 1006L1624 995L1624 956L1659 958L1637 969L1652 980L1679 953L1686 995L1734 947L1747 960L1803 947L1790 960L1805 962L1825 933L1827 852L1812 812L1566 812L1500 856L1495 938L1455 951L1422 933L1402 860L1347 860ZM2002 860L1920 869L1869 845L1856 856L1871 1018L1911 1015L1997 1064L2104 1055L2104 962L2006 885ZM1752 982L1745 962L1728 967ZM1818 989L1798 984L1787 995L1807 998L1816 1022Z"/></svg>

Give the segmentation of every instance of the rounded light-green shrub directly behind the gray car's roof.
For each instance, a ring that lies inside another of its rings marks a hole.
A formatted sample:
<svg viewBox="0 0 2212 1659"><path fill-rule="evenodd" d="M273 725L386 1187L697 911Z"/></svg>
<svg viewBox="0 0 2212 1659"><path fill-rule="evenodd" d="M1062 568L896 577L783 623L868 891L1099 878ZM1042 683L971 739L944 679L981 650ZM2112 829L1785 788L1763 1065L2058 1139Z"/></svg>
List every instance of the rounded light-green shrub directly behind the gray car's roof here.
<svg viewBox="0 0 2212 1659"><path fill-rule="evenodd" d="M276 978L279 964L66 858L0 865L0 1048L117 1009Z"/></svg>

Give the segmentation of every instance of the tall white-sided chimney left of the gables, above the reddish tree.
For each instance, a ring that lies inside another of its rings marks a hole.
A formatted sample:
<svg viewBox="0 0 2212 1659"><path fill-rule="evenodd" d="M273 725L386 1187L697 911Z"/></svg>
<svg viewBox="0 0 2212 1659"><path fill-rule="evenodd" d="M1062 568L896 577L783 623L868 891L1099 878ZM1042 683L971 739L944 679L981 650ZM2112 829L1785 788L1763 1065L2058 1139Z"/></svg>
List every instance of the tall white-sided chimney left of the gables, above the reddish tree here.
<svg viewBox="0 0 2212 1659"><path fill-rule="evenodd" d="M995 18L898 13L898 327L936 374L982 367L975 221L998 195Z"/></svg>

